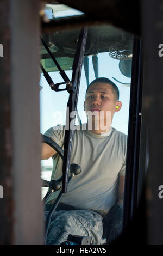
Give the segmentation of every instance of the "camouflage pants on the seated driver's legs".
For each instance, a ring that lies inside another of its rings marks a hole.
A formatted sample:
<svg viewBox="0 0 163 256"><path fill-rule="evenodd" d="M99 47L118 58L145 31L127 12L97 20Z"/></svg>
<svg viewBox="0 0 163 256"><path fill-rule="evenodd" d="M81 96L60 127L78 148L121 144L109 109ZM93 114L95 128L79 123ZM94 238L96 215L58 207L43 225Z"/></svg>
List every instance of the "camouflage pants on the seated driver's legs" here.
<svg viewBox="0 0 163 256"><path fill-rule="evenodd" d="M48 211L45 211L45 217ZM91 210L58 210L52 215L46 245L60 245L68 235L89 236L92 245L102 245L102 216Z"/></svg>

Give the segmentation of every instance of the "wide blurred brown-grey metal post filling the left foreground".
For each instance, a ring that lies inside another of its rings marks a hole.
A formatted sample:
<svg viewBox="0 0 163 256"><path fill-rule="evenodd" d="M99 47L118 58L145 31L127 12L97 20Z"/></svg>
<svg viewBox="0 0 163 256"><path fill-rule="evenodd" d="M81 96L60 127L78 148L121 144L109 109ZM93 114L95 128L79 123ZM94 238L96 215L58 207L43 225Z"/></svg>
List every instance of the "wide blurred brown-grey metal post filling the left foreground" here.
<svg viewBox="0 0 163 256"><path fill-rule="evenodd" d="M39 9L40 0L0 2L1 245L43 244Z"/></svg>

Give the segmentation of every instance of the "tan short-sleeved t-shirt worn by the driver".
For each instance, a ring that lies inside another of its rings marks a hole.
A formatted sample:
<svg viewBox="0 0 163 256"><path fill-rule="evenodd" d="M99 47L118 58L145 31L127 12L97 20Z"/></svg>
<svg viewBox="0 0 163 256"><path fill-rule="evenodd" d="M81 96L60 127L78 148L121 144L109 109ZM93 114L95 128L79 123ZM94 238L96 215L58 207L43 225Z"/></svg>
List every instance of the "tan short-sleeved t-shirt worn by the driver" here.
<svg viewBox="0 0 163 256"><path fill-rule="evenodd" d="M64 149L65 126L58 125L45 132ZM82 172L74 176L61 203L78 209L106 213L118 199L118 174L124 175L126 168L127 135L114 128L97 135L76 126L74 130L71 163L77 163ZM58 154L53 157L51 180L62 175L62 160ZM48 202L57 198L54 192Z"/></svg>

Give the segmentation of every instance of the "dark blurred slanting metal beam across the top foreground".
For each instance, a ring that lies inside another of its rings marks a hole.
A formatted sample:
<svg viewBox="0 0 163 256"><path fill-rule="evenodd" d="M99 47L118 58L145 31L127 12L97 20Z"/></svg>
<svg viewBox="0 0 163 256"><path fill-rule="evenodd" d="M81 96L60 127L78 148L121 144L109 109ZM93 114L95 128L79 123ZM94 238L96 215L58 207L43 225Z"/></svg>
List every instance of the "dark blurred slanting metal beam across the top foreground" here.
<svg viewBox="0 0 163 256"><path fill-rule="evenodd" d="M48 1L48 3L58 2ZM128 32L141 35L139 0L62 0L60 3L80 10L92 19L104 20Z"/></svg>

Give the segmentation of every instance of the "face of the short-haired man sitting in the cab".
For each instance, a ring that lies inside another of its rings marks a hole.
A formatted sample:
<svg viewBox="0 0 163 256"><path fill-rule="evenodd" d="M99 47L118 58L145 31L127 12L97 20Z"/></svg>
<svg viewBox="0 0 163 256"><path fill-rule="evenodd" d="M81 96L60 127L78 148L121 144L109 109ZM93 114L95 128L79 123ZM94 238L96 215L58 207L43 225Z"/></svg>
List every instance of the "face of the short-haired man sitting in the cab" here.
<svg viewBox="0 0 163 256"><path fill-rule="evenodd" d="M111 121L115 112L120 111L121 101L117 101L115 94L112 92L112 86L107 83L93 83L86 93L84 102L85 111L100 113L103 111L106 118L106 112L110 112ZM119 108L116 109L116 106Z"/></svg>

